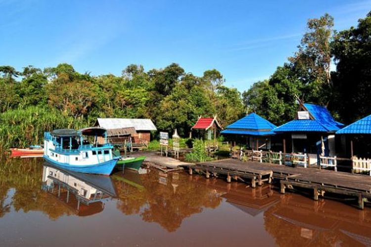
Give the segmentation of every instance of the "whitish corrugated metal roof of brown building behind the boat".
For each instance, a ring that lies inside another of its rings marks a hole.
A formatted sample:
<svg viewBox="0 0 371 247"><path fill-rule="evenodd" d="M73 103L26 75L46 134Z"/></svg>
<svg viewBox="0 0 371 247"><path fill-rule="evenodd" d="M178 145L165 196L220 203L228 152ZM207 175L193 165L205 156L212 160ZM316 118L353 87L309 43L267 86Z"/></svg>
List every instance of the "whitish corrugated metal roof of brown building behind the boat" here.
<svg viewBox="0 0 371 247"><path fill-rule="evenodd" d="M134 127L136 131L157 130L150 119L101 119L98 118L97 124L105 129Z"/></svg>

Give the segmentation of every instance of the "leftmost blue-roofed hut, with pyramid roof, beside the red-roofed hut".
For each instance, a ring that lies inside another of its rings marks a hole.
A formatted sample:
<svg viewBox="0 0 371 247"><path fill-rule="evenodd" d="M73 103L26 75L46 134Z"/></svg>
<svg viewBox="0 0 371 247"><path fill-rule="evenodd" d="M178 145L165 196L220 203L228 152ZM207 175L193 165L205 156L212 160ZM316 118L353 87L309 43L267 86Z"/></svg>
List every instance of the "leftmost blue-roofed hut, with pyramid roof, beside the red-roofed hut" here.
<svg viewBox="0 0 371 247"><path fill-rule="evenodd" d="M221 133L233 135L233 139L239 139L247 143L248 148L253 150L271 149L271 136L276 133L273 129L277 126L256 113L250 113L233 124L230 124Z"/></svg>

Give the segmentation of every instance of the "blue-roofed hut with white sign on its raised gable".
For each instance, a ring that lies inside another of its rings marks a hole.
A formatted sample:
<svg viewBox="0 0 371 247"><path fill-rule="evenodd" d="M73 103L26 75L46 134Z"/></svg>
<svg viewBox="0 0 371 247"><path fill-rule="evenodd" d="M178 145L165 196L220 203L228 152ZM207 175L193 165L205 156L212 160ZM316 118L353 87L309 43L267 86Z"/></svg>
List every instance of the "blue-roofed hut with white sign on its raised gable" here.
<svg viewBox="0 0 371 247"><path fill-rule="evenodd" d="M299 111L295 120L282 124L274 129L282 134L283 152L307 153L313 162L317 155L325 151L325 156L335 154L335 132L344 126L334 120L329 111L319 105L299 103ZM286 140L288 140L286 142ZM313 154L313 155L311 155Z"/></svg>

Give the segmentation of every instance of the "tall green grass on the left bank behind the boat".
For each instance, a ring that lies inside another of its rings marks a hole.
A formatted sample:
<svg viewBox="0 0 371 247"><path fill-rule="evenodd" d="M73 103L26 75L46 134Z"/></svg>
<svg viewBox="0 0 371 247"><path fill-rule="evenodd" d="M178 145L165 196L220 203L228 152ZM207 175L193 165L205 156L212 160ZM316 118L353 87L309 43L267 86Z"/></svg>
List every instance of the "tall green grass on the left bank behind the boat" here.
<svg viewBox="0 0 371 247"><path fill-rule="evenodd" d="M80 128L85 121L47 107L30 106L0 115L0 148L28 147L43 142L44 132L56 128Z"/></svg>

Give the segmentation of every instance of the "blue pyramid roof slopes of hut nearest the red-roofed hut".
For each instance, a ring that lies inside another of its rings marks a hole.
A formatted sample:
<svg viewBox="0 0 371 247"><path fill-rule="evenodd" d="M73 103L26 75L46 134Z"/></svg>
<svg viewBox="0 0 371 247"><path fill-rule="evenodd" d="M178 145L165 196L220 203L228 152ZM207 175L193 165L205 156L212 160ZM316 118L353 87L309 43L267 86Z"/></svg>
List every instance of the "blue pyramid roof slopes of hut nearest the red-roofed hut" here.
<svg viewBox="0 0 371 247"><path fill-rule="evenodd" d="M256 113L250 113L246 117L237 120L233 124L227 126L226 129L247 129L247 130L272 130L276 128L275 124L272 124L268 120L260 117Z"/></svg>

